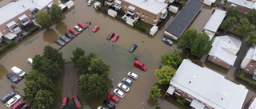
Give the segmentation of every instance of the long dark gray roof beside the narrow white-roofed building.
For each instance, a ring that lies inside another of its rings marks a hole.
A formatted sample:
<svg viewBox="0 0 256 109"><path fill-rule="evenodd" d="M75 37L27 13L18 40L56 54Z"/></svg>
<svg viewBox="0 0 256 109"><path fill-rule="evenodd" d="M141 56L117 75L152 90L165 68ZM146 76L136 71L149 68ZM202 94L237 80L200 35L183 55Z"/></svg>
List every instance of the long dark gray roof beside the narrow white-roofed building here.
<svg viewBox="0 0 256 109"><path fill-rule="evenodd" d="M176 37L180 37L185 31L186 27L190 25L190 22L202 9L203 4L196 0L190 0L186 6L182 9L180 14L170 23L166 31L173 34Z"/></svg>

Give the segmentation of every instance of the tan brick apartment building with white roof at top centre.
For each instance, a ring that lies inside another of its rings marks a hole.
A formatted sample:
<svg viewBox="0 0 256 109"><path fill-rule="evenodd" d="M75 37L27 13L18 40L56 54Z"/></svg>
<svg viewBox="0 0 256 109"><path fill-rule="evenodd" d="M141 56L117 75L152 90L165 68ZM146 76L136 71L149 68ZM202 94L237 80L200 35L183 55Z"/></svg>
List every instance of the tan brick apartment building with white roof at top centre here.
<svg viewBox="0 0 256 109"><path fill-rule="evenodd" d="M168 15L167 4L162 0L115 0L114 9L126 13L122 18L132 25L138 19L157 25Z"/></svg>

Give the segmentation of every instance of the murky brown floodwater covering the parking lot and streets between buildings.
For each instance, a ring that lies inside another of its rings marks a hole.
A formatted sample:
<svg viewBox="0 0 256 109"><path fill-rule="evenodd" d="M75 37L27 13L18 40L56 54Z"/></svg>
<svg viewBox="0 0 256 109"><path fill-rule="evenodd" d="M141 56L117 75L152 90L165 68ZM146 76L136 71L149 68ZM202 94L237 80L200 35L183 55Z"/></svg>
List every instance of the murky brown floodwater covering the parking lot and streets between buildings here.
<svg viewBox="0 0 256 109"><path fill-rule="evenodd" d="M1 1L0 6L6 2L8 3L9 0ZM202 31L202 28L210 18L211 14L209 13L211 13L212 10L213 9L210 9L209 6L203 6L197 20L194 20L194 23L198 24L192 24L190 25L190 28ZM175 15L172 14L172 16ZM200 18L199 22L198 18ZM38 32L34 33L32 36L19 42L16 47L9 49L6 53L0 55L0 90L2 92L0 93L0 96L12 91L10 88L10 81L4 77L6 73L10 72L11 67L16 65L18 68L22 68L25 72L28 72L31 66L26 63L27 58L34 57L36 54L42 54L45 45L50 45L59 49L60 46L54 44L54 40L58 38L58 36L66 33L67 29L73 28L78 21L81 21L87 25L89 25L88 22L90 22L89 28L60 50L66 61L70 61L72 51L77 47L84 49L86 54L89 54L90 52L96 53L106 62L106 64L111 65L109 78L113 79L111 81L113 88L111 88L110 93L113 93L113 89L117 88L117 84L122 82L122 78L126 76L127 72L132 71L139 76L138 80L134 80L134 84L130 86L130 91L125 93L126 96L116 104L117 108L151 109L159 105L162 109L189 109L190 107L182 106L170 96L166 96L165 99L158 99L158 101L154 101L149 97L149 88L156 84L154 71L162 65L160 63L160 56L164 52L170 53L174 49L177 49L176 45L169 46L161 41L164 30L170 25L170 22L173 19L173 17L170 17L170 20L167 21L162 28L159 28L156 35L150 36L137 29L131 28L130 25L123 24L106 14L102 14L101 12L98 12L98 10L94 10L93 6L86 6L86 1L84 0L74 1L74 7L63 14L62 20L55 21L50 29L39 29ZM92 33L90 31L94 25L100 26L97 33ZM120 35L117 42L106 41L106 36L111 32ZM143 40L144 43L142 43ZM133 44L138 45L138 49L136 49L134 53L127 52L127 49ZM148 70L146 72L134 68L133 61L135 56L138 56L138 60L147 65ZM182 57L193 58L184 54L182 54ZM199 61L198 64L202 65ZM227 70L216 67L217 65L214 66L214 64L211 63L205 63L205 65L209 68L214 68L214 70L223 73L223 75L227 72ZM15 90L21 95L24 95L22 92L24 80L15 84L15 86L17 87ZM159 87L162 89L162 94L164 94L168 88L168 86ZM252 95L252 93L253 92L251 91L250 95ZM84 108L94 109L99 105L102 105L104 99L106 98L97 99L96 101L86 100L86 103L83 104L85 106ZM7 109L4 103L0 103L0 107L2 109Z"/></svg>

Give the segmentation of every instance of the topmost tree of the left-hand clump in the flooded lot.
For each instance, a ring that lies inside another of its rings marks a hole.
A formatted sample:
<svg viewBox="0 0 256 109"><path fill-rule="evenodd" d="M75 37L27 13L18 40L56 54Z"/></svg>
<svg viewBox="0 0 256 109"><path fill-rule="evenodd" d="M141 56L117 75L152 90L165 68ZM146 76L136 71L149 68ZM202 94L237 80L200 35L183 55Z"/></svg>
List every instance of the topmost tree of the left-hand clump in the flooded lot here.
<svg viewBox="0 0 256 109"><path fill-rule="evenodd" d="M56 62L60 68L64 66L64 59L62 58L62 53L58 52L57 49L54 49L50 45L46 45L43 49L43 56L46 56L47 59Z"/></svg>

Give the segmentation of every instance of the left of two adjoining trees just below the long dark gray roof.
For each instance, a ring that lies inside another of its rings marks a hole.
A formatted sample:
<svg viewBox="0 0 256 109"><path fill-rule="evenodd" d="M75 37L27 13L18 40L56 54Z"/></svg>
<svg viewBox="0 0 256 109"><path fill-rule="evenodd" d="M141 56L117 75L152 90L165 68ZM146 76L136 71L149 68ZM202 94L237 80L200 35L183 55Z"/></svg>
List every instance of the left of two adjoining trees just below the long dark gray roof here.
<svg viewBox="0 0 256 109"><path fill-rule="evenodd" d="M178 41L178 49L190 49L193 45L194 38L198 36L196 29L187 29L184 33L182 33L182 37L180 37Z"/></svg>

